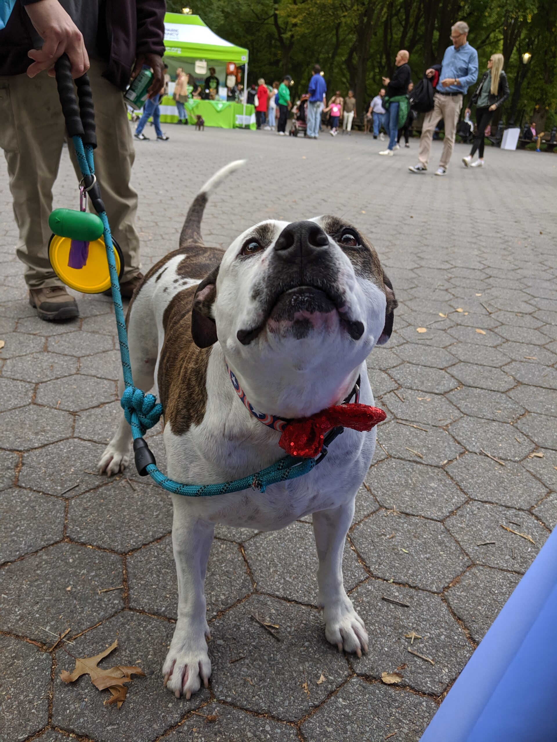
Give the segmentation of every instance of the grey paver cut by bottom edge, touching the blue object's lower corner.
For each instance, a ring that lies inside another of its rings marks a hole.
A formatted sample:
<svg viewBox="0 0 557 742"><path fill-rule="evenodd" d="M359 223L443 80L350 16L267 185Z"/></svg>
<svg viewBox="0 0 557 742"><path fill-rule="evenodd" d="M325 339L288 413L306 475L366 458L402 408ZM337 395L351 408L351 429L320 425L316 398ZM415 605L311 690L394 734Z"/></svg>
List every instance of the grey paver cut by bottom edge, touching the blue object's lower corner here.
<svg viewBox="0 0 557 742"><path fill-rule="evenodd" d="M302 733L307 742L377 742L389 735L418 742L436 711L431 698L353 677L304 721Z"/></svg>

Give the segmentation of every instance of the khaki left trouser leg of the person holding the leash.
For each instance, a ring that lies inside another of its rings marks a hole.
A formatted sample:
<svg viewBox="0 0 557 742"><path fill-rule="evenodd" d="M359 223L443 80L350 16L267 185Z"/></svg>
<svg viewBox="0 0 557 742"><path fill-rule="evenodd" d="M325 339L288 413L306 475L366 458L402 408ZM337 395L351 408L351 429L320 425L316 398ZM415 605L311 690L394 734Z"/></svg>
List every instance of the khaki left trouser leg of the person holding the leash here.
<svg viewBox="0 0 557 742"><path fill-rule="evenodd" d="M46 73L0 77L0 147L19 229L16 255L33 289L60 285L48 261L48 216L64 138L55 79Z"/></svg>

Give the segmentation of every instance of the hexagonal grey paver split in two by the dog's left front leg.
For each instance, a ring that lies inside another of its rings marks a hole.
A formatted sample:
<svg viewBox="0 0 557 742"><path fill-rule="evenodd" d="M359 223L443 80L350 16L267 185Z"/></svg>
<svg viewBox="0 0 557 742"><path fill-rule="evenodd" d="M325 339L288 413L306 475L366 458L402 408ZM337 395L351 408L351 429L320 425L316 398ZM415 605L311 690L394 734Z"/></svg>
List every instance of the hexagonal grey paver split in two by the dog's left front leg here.
<svg viewBox="0 0 557 742"><path fill-rule="evenodd" d="M127 566L130 607L177 618L178 591L171 536L132 554ZM252 589L238 545L215 539L205 578L207 620Z"/></svg>

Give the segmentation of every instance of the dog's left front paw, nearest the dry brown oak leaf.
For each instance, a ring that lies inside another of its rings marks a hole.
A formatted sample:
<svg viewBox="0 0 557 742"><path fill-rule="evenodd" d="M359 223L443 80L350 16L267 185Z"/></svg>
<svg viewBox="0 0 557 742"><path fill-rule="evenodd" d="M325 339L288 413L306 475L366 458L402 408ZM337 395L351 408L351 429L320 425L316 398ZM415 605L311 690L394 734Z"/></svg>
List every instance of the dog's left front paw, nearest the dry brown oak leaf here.
<svg viewBox="0 0 557 742"><path fill-rule="evenodd" d="M203 686L209 687L211 677L211 660L207 653L206 642L190 646L189 642L179 648L170 647L163 664L164 686L174 695L189 699ZM172 643L174 644L174 642Z"/></svg>

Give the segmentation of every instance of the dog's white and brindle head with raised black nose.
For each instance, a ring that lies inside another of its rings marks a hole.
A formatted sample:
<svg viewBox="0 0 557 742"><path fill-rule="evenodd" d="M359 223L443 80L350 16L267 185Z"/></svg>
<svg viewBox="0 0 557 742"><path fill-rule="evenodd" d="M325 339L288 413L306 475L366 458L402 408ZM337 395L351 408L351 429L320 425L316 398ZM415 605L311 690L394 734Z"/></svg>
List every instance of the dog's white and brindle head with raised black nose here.
<svg viewBox="0 0 557 742"><path fill-rule="evenodd" d="M269 385L318 375L334 396L388 340L396 306L377 253L354 226L330 216L269 220L234 240L200 283L192 335L200 347L218 340L250 389L261 380L268 395Z"/></svg>

